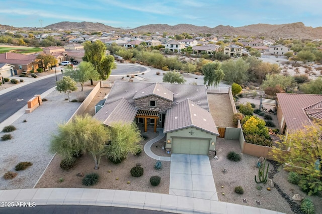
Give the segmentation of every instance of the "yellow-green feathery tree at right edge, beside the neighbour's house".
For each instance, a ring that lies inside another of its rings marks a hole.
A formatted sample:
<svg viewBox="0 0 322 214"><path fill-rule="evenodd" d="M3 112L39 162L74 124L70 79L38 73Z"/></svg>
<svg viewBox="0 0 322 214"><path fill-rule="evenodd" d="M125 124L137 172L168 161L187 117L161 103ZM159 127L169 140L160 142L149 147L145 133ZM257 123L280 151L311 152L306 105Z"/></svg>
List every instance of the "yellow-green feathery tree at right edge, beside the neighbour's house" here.
<svg viewBox="0 0 322 214"><path fill-rule="evenodd" d="M304 125L302 129L291 131L287 138L281 136L282 142L277 141L277 147L288 150L273 149L270 155L280 163L288 163L292 170L303 175L298 185L308 195L322 191L322 123ZM318 178L319 177L319 178Z"/></svg>

